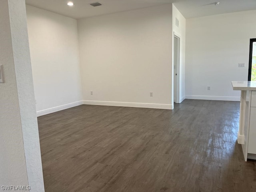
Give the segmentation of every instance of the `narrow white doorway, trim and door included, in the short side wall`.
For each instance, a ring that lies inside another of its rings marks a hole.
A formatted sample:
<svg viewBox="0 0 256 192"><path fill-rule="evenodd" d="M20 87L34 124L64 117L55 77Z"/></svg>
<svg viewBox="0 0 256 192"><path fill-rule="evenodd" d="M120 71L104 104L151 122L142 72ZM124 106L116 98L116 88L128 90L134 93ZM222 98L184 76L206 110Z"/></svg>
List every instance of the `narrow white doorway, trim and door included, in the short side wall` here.
<svg viewBox="0 0 256 192"><path fill-rule="evenodd" d="M173 46L174 94L175 103L180 103L180 37L174 33Z"/></svg>

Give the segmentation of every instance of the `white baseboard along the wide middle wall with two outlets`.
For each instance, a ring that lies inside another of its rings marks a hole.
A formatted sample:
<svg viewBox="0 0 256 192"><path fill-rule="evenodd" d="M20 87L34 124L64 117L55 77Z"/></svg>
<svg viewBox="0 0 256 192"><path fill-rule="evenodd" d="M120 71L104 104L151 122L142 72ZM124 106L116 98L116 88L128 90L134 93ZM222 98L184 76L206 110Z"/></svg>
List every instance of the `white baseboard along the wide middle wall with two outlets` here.
<svg viewBox="0 0 256 192"><path fill-rule="evenodd" d="M130 103L130 102L110 102L110 101L83 101L85 105L104 105L104 106L120 106L120 107L139 107L153 109L169 109L172 110L171 104L152 104L152 103Z"/></svg>

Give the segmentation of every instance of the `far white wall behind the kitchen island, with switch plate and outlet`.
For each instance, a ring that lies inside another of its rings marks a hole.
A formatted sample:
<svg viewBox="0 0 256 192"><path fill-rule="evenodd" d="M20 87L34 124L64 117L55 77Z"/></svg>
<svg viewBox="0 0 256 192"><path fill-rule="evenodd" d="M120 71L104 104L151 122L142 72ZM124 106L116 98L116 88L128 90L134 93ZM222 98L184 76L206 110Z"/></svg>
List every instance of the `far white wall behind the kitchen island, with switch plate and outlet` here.
<svg viewBox="0 0 256 192"><path fill-rule="evenodd" d="M253 10L186 20L186 98L239 100L231 81L247 80L255 16Z"/></svg>

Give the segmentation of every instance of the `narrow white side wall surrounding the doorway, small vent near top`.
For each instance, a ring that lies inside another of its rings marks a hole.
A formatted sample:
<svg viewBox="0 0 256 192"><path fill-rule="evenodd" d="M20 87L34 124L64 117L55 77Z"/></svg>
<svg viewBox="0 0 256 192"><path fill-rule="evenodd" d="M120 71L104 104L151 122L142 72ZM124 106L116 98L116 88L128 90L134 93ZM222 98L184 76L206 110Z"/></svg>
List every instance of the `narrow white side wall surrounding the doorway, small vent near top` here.
<svg viewBox="0 0 256 192"><path fill-rule="evenodd" d="M179 26L176 26L176 18L179 20ZM178 103L180 103L185 99L186 19L174 4L172 4L172 31L180 38L180 68L178 72L180 82L180 100Z"/></svg>

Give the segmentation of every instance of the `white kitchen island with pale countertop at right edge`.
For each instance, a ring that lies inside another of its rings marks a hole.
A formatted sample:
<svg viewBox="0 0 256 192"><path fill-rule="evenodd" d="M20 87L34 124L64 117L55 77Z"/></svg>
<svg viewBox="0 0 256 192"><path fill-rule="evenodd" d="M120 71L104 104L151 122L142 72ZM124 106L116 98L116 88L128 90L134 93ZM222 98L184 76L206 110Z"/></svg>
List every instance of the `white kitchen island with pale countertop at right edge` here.
<svg viewBox="0 0 256 192"><path fill-rule="evenodd" d="M232 86L241 91L237 141L242 144L245 161L256 159L256 81L232 81Z"/></svg>

